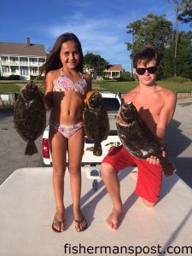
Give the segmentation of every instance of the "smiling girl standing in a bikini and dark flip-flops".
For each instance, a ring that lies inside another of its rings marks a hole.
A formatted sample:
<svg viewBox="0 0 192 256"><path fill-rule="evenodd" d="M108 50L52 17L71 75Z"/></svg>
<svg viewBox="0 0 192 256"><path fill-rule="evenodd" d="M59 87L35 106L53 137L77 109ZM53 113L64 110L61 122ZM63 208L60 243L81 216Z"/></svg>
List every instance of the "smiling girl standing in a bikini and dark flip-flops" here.
<svg viewBox="0 0 192 256"><path fill-rule="evenodd" d="M84 99L91 90L90 75L83 73L84 56L73 33L61 34L50 50L41 73L45 74L44 106L51 108L49 145L53 161L53 188L56 212L52 229L65 230L64 175L66 154L73 198L75 229L83 231L86 220L80 210L81 160L84 153Z"/></svg>

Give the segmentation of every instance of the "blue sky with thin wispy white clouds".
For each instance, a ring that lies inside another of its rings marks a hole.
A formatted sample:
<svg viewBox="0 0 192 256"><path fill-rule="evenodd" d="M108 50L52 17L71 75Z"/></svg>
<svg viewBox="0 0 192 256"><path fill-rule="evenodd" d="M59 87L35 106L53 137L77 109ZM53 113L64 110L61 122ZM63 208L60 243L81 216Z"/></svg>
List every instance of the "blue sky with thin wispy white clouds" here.
<svg viewBox="0 0 192 256"><path fill-rule="evenodd" d="M148 14L166 15L174 25L174 4L168 0L5 0L1 3L0 42L44 44L49 52L64 32L79 38L84 55L101 55L109 64L131 71L131 34L126 26ZM178 24L189 31L189 25Z"/></svg>

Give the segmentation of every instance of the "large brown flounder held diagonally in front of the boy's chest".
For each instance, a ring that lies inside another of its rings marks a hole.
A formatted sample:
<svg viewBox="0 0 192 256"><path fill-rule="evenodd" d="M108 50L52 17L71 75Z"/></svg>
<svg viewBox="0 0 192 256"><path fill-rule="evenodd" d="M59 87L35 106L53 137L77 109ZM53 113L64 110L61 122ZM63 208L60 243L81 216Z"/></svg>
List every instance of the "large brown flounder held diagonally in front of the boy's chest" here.
<svg viewBox="0 0 192 256"><path fill-rule="evenodd" d="M120 141L130 154L143 160L154 155L160 159L160 165L166 177L176 172L172 162L162 156L163 148L158 138L141 119L132 102L122 102L116 117L116 125Z"/></svg>

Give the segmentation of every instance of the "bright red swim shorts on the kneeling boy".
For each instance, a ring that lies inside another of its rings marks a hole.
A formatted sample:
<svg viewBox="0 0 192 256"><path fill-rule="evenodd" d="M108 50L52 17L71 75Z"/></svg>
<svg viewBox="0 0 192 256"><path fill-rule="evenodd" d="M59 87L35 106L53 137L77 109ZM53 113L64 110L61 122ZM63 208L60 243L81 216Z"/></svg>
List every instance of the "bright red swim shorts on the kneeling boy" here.
<svg viewBox="0 0 192 256"><path fill-rule="evenodd" d="M137 159L122 145L110 148L108 154L102 160L103 162L113 166L115 172L119 172L128 166L137 165L136 195L152 203L158 200L162 181L162 168L160 165L149 164L147 160Z"/></svg>

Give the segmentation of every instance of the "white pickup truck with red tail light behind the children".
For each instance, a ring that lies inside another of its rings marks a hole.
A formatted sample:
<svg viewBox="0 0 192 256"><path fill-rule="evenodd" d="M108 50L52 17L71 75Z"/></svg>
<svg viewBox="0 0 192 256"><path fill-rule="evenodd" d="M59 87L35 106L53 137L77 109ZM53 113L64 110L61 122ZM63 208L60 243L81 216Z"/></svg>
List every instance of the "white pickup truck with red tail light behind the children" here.
<svg viewBox="0 0 192 256"><path fill-rule="evenodd" d="M120 145L120 140L117 135L117 128L115 124L115 114L120 107L120 96L118 93L101 92L104 104L108 111L108 118L110 124L110 131L107 140L102 142L102 156L96 156L93 154L93 143L89 142L88 138L84 137L84 155L82 159L82 166L100 166L103 157L108 154L111 146ZM50 166L52 164L51 156L49 153L49 125L46 127L43 134L43 161L44 166Z"/></svg>

